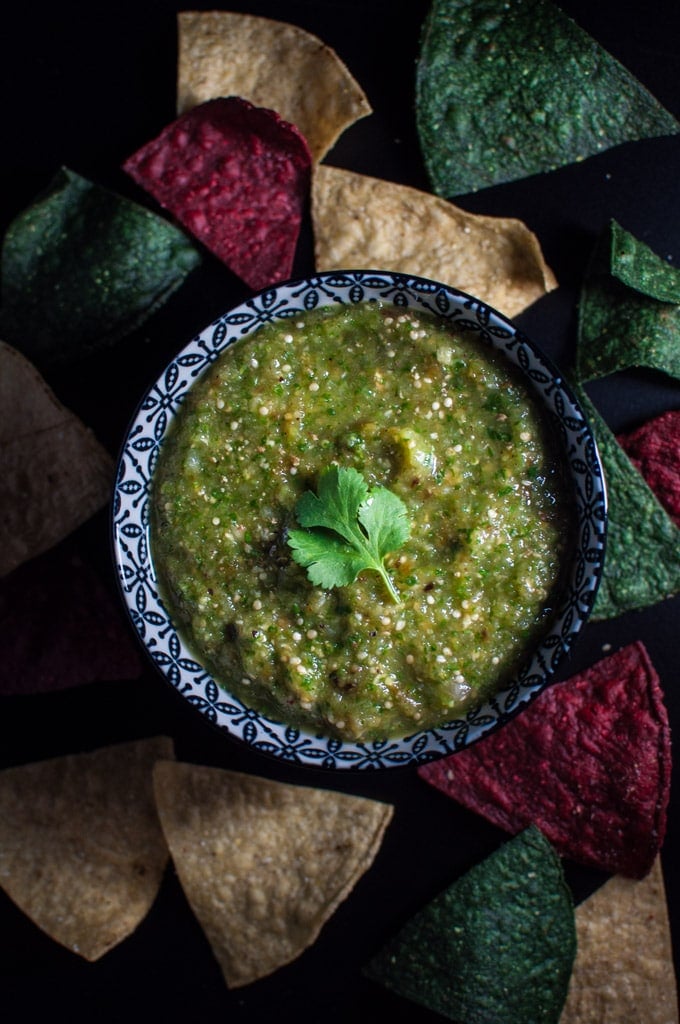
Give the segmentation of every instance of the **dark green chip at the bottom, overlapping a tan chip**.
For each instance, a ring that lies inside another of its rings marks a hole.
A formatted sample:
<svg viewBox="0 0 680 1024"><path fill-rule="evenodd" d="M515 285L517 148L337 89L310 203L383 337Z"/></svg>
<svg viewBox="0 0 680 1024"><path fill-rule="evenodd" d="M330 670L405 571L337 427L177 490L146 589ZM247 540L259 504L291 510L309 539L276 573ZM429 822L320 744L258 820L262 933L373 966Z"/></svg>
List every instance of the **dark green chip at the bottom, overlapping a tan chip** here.
<svg viewBox="0 0 680 1024"><path fill-rule="evenodd" d="M576 946L561 863L530 826L413 918L366 974L458 1024L557 1024Z"/></svg>

